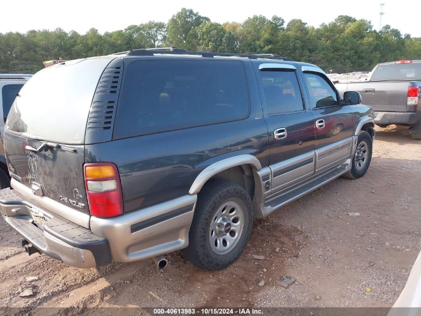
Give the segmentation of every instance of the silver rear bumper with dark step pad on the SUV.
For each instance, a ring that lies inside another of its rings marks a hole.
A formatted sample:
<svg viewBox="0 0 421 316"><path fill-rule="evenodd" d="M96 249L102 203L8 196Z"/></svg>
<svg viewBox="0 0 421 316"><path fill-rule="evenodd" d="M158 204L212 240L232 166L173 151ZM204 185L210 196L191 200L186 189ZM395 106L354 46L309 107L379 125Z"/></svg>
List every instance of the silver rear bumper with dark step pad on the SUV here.
<svg viewBox="0 0 421 316"><path fill-rule="evenodd" d="M24 201L17 191L11 188L0 190L3 219L40 252L78 268L92 268L111 262L106 239L57 215L45 213L47 220L42 230L32 220L32 208L39 209Z"/></svg>

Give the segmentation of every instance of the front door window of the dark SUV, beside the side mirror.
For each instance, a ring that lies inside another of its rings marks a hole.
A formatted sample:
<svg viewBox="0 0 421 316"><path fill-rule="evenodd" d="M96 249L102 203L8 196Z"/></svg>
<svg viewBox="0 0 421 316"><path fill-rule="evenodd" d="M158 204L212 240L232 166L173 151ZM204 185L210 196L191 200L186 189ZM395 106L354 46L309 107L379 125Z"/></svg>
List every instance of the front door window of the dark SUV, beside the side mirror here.
<svg viewBox="0 0 421 316"><path fill-rule="evenodd" d="M322 76L315 73L304 73L311 105L325 107L338 104L335 90Z"/></svg>

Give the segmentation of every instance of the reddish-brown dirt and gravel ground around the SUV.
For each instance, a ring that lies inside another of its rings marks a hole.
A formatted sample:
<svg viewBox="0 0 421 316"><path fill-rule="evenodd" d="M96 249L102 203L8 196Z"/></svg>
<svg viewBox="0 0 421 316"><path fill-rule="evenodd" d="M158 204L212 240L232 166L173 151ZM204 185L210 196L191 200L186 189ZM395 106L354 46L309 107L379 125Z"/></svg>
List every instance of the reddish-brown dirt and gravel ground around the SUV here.
<svg viewBox="0 0 421 316"><path fill-rule="evenodd" d="M152 261L76 269L28 257L1 219L0 307L392 306L420 252L421 141L377 130L365 177L337 179L255 220L245 253L224 271L201 271L178 252L163 271ZM296 283L281 288L283 275ZM27 276L39 277L37 294L19 298Z"/></svg>

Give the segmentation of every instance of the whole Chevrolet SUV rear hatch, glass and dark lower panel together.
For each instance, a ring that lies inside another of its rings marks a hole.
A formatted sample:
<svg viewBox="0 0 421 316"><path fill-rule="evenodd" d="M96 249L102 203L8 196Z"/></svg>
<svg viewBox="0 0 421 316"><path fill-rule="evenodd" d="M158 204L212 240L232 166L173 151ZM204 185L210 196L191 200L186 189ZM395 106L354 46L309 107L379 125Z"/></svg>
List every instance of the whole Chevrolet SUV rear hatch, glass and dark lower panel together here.
<svg viewBox="0 0 421 316"><path fill-rule="evenodd" d="M7 117L10 176L75 210L89 213L83 174L85 132L98 81L112 57L67 61L37 72Z"/></svg>

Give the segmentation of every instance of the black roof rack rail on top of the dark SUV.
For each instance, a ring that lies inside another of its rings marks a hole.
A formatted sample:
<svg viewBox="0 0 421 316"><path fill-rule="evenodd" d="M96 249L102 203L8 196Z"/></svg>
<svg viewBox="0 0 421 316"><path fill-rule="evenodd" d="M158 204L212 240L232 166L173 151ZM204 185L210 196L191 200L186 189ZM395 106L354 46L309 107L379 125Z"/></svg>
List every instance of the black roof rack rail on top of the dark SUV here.
<svg viewBox="0 0 421 316"><path fill-rule="evenodd" d="M128 56L153 56L154 54L175 54L175 55L198 55L202 57L246 57L250 59L267 58L278 59L284 61L293 61L291 58L277 54L236 54L225 52L211 52L211 51L190 51L184 50L179 47L157 47L157 48L144 48L132 49L116 54L126 54Z"/></svg>

